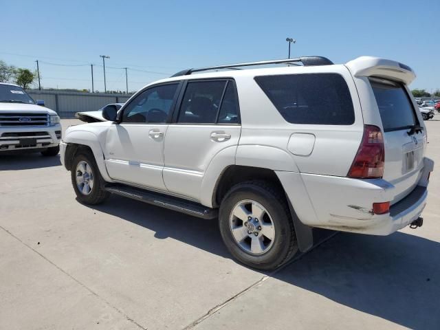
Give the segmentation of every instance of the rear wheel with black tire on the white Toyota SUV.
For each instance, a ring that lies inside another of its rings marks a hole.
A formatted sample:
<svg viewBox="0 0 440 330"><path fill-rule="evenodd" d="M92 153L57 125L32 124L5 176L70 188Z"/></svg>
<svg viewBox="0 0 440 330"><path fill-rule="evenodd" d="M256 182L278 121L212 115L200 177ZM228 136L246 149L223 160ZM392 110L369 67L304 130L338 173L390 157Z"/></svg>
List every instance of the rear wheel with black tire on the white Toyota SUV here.
<svg viewBox="0 0 440 330"><path fill-rule="evenodd" d="M239 214L241 219L234 213ZM263 219L258 219L261 214ZM284 192L266 181L246 181L233 186L221 202L219 227L223 242L232 256L258 270L274 270L292 259L298 251L294 223ZM255 244L252 245L252 242Z"/></svg>

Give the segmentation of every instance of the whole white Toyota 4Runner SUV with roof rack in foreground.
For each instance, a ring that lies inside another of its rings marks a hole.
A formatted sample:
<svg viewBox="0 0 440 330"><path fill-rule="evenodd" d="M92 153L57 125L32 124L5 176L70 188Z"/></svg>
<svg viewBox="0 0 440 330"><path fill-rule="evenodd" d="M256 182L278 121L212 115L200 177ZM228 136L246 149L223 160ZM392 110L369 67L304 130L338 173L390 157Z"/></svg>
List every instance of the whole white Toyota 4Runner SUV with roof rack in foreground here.
<svg viewBox="0 0 440 330"><path fill-rule="evenodd" d="M61 159L83 203L114 193L218 217L236 259L270 270L311 248L311 228L421 225L433 162L414 78L373 57L188 69L67 129Z"/></svg>

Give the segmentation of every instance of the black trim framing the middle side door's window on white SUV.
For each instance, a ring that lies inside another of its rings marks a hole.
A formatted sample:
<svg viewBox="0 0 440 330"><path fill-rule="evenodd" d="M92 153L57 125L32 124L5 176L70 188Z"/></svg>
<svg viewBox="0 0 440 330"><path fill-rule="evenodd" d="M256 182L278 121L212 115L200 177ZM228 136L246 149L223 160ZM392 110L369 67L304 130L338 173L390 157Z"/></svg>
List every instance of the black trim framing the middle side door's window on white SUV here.
<svg viewBox="0 0 440 330"><path fill-rule="evenodd" d="M179 113L181 111L181 104L184 100L184 95L186 92L186 88L188 87L188 83L200 83L204 81L225 81L225 87L223 87L223 92L221 94L221 100L219 104L219 109L217 110L217 117L215 122L211 123L203 123L203 122L178 122ZM225 97L226 88L228 87L228 84L232 83L232 87L234 88L235 98L236 98L236 111L237 111L237 122L226 124L224 122L218 122L219 121L219 114L221 111L221 104L223 104L223 98ZM234 78L231 77L221 77L221 78L197 78L197 79L186 79L183 81L183 85L179 92L179 97L177 98L177 104L174 109L175 113L173 114L173 119L171 120L170 124L178 124L178 125L218 125L218 126L241 126L241 115L240 115L240 102L239 102L239 94L236 88L236 83Z"/></svg>

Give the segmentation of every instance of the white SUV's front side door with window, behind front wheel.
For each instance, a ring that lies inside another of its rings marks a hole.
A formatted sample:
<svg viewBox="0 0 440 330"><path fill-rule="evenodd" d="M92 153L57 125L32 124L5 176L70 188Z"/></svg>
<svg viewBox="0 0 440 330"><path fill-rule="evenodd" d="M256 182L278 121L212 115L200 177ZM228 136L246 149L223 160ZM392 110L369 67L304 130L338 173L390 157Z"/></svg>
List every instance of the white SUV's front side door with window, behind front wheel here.
<svg viewBox="0 0 440 330"><path fill-rule="evenodd" d="M105 162L112 179L166 190L162 179L164 137L179 83L149 87L122 109L122 122L110 126Z"/></svg>

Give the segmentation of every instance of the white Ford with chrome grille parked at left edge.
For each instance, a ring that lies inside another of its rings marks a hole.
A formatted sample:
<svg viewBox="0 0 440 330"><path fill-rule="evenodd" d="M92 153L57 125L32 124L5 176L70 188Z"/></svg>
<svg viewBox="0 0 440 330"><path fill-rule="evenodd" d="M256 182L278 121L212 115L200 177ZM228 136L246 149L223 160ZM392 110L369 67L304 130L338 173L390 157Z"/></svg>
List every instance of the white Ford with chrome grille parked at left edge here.
<svg viewBox="0 0 440 330"><path fill-rule="evenodd" d="M0 155L6 151L58 155L60 118L43 106L43 100L35 102L18 85L0 83Z"/></svg>

